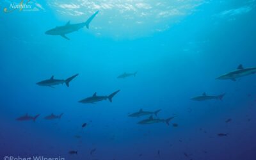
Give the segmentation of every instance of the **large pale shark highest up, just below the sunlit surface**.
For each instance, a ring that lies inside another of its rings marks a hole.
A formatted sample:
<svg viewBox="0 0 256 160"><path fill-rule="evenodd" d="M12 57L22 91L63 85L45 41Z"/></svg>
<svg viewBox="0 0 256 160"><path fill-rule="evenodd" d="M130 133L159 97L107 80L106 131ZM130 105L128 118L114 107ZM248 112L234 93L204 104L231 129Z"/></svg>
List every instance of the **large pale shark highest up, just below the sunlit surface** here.
<svg viewBox="0 0 256 160"><path fill-rule="evenodd" d="M72 33L74 31L78 31L81 28L84 28L86 26L87 29L89 29L89 24L92 22L94 17L99 13L99 11L95 12L89 19L87 19L85 22L77 23L77 24L70 24L70 20L67 22L64 26L57 26L56 28L49 29L45 32L45 35L60 35L63 38L70 40L66 35L68 33Z"/></svg>

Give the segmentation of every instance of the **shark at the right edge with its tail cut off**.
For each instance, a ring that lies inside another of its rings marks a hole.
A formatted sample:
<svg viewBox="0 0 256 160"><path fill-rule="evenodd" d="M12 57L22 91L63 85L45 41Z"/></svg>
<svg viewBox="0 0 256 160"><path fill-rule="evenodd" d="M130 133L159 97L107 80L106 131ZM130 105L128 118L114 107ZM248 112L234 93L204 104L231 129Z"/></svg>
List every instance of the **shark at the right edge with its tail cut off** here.
<svg viewBox="0 0 256 160"><path fill-rule="evenodd" d="M236 81L239 77L249 76L251 74L256 73L256 67L244 68L243 65L239 65L236 70L232 72L228 72L227 74L223 74L216 79L230 79L232 81Z"/></svg>

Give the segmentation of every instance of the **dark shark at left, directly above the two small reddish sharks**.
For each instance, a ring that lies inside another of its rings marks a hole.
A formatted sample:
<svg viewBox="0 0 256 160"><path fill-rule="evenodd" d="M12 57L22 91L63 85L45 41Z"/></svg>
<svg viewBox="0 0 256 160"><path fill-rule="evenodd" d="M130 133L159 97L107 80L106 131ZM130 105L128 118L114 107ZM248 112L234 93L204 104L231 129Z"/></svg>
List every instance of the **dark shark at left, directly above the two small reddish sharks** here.
<svg viewBox="0 0 256 160"><path fill-rule="evenodd" d="M74 79L76 76L78 76L78 74L75 74L74 76L71 76L67 79L54 79L54 76L52 76L50 79L46 79L44 81L40 81L36 84L38 84L38 86L49 86L51 88L54 88L53 86L58 85L58 84L63 84L65 83L67 85L67 87L69 86L70 81L72 81L72 79Z"/></svg>

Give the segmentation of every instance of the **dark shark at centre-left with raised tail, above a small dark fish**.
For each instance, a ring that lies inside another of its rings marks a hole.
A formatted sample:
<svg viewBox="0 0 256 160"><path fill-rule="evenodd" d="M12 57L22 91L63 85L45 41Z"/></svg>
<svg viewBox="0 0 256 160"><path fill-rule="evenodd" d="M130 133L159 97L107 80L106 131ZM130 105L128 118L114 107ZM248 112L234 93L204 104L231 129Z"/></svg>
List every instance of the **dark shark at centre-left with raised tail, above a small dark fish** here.
<svg viewBox="0 0 256 160"><path fill-rule="evenodd" d="M78 102L80 103L84 103L84 104L95 104L95 102L100 102L102 100L109 100L109 102L112 102L113 97L116 95L116 93L120 92L120 90L117 90L116 92L111 93L110 95L106 95L106 96L101 96L101 95L97 95L97 93L95 92L92 97L87 97L85 99L79 100Z"/></svg>

